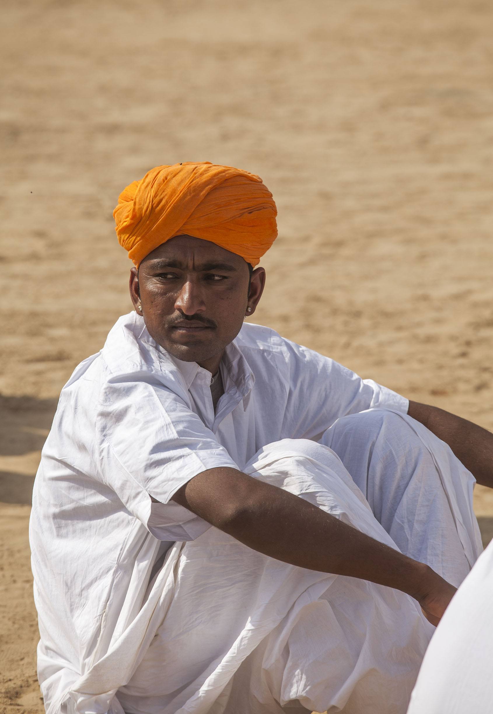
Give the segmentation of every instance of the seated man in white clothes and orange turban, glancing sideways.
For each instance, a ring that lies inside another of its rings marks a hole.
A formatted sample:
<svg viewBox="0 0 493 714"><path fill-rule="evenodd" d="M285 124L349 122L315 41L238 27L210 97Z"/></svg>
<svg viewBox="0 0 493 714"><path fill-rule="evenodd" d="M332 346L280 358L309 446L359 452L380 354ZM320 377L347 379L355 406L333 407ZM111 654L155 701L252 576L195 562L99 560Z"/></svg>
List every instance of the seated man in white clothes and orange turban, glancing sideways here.
<svg viewBox="0 0 493 714"><path fill-rule="evenodd" d="M481 549L423 423L478 476L491 435L243 325L277 236L258 176L159 166L114 216L135 312L64 387L34 488L46 710L404 712L422 610Z"/></svg>

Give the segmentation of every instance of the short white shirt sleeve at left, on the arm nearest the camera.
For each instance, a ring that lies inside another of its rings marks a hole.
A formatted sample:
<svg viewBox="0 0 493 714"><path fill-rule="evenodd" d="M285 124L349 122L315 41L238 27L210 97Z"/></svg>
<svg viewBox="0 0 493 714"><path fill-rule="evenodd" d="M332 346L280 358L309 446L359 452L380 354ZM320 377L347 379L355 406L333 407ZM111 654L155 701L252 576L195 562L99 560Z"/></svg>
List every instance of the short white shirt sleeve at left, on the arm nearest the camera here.
<svg viewBox="0 0 493 714"><path fill-rule="evenodd" d="M209 528L170 499L203 471L238 467L182 398L157 381L113 377L97 421L101 478L153 535L193 540Z"/></svg>

